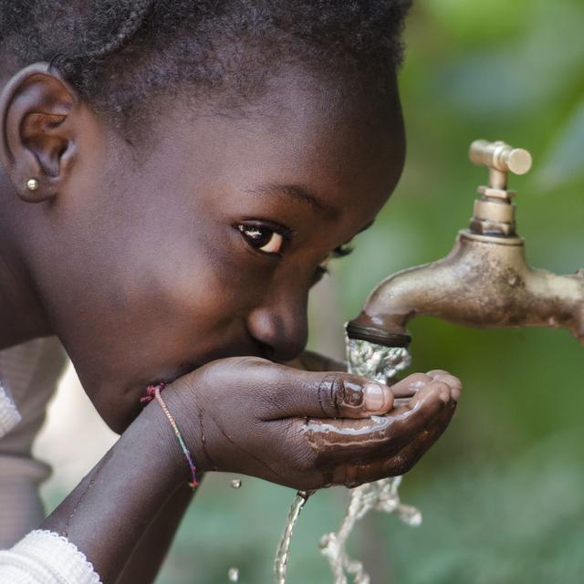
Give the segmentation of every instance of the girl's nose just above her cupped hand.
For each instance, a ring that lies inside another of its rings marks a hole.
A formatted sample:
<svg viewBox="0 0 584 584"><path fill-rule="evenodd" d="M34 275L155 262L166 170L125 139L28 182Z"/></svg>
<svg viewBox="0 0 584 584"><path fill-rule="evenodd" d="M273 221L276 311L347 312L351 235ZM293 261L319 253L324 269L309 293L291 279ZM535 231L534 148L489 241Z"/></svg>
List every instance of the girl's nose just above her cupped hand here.
<svg viewBox="0 0 584 584"><path fill-rule="evenodd" d="M247 329L276 361L296 358L308 341L308 292L280 291L247 317Z"/></svg>

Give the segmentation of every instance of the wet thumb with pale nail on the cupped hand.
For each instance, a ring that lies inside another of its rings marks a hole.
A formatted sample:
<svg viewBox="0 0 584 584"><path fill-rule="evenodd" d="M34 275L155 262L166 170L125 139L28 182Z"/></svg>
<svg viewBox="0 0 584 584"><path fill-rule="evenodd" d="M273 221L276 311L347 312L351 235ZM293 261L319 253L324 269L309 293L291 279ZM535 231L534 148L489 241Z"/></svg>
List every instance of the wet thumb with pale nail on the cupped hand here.
<svg viewBox="0 0 584 584"><path fill-rule="evenodd" d="M393 407L393 393L378 381L341 371L310 372L277 366L270 387L271 412L278 418L367 418Z"/></svg>

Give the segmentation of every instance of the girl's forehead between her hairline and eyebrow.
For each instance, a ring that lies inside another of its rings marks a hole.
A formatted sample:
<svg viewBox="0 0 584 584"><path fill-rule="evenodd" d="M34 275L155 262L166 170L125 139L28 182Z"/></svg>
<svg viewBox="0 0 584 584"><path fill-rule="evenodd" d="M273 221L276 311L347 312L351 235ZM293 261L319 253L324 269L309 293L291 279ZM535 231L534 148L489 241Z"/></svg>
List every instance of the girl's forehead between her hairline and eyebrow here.
<svg viewBox="0 0 584 584"><path fill-rule="evenodd" d="M397 89L381 95L292 68L243 109L175 103L157 133L181 153L172 164L182 172L244 190L301 184L327 203L373 198L381 207L403 162Z"/></svg>

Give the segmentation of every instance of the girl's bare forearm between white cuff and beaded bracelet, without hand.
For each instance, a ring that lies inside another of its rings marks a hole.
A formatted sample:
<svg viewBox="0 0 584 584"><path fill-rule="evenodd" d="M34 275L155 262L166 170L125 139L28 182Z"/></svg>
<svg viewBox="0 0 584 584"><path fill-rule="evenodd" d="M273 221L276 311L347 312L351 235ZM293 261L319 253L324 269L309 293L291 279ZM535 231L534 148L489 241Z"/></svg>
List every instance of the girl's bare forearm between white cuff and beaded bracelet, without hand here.
<svg viewBox="0 0 584 584"><path fill-rule="evenodd" d="M117 582L126 564L130 568L135 561L132 554L142 537L144 544L152 537L152 522L163 521L161 509L182 498L176 497L186 477L172 427L158 404L151 403L41 528L67 537L105 584ZM172 521L176 525L179 518ZM153 569L160 565L162 550L154 555Z"/></svg>

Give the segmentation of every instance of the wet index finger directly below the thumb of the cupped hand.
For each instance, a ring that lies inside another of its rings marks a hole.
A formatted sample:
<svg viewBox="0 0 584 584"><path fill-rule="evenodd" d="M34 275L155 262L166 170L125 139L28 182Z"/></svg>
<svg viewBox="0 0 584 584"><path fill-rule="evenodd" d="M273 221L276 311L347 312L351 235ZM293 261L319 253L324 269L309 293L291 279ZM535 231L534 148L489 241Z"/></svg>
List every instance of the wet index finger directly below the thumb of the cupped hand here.
<svg viewBox="0 0 584 584"><path fill-rule="evenodd" d="M371 456L395 454L422 433L444 409L451 395L443 381L430 381L405 406L368 420L308 420L303 425L308 443L318 454Z"/></svg>

